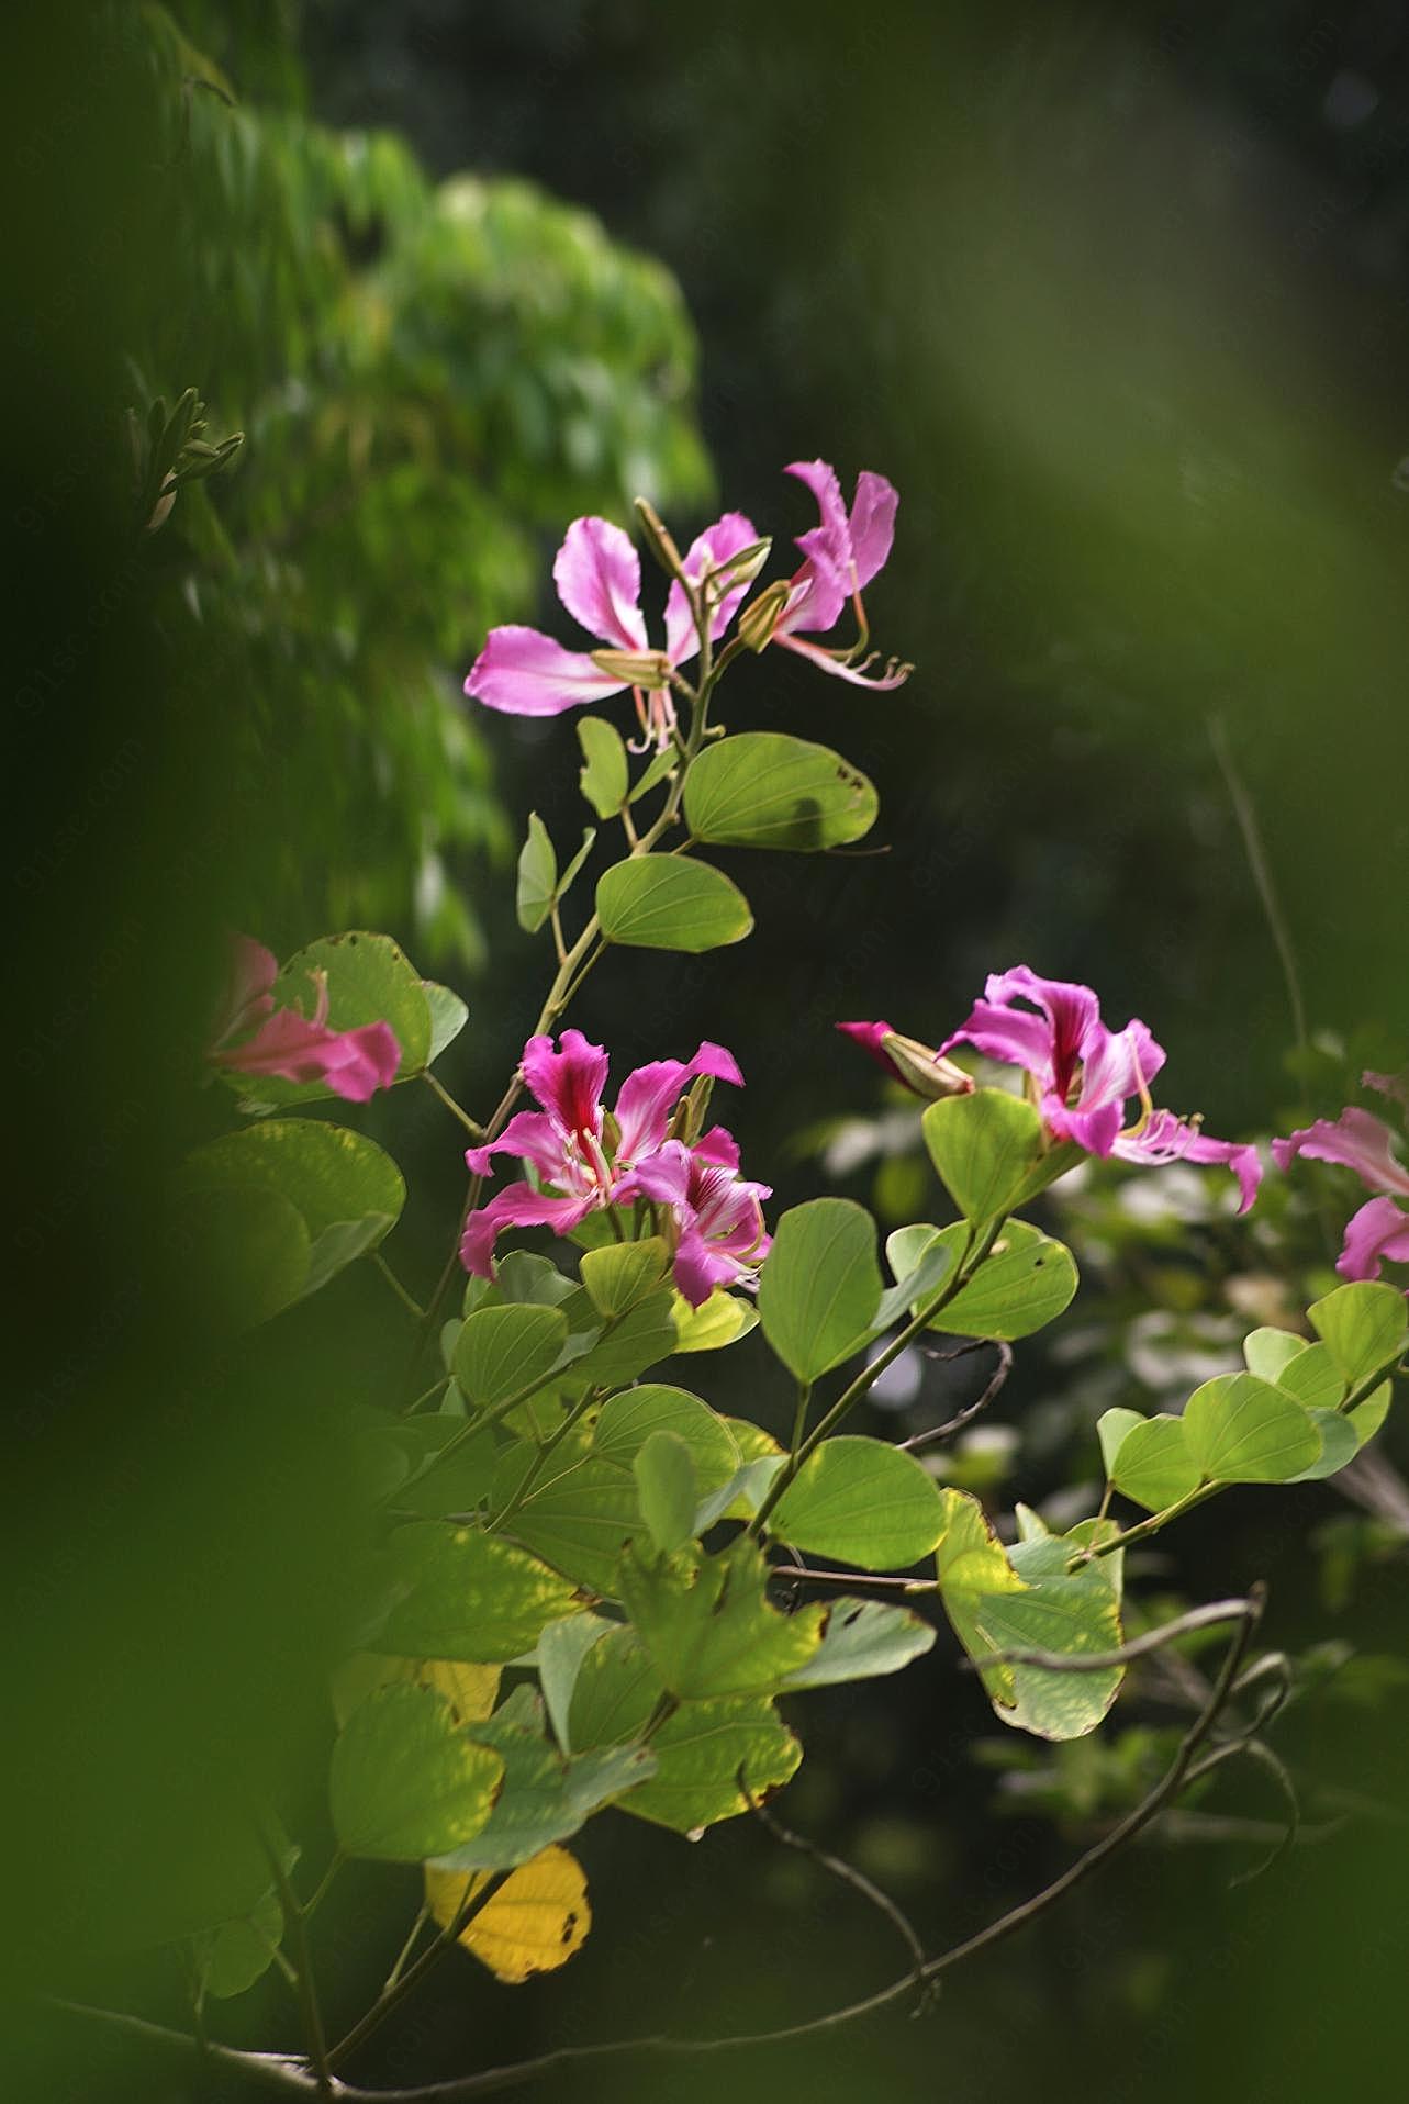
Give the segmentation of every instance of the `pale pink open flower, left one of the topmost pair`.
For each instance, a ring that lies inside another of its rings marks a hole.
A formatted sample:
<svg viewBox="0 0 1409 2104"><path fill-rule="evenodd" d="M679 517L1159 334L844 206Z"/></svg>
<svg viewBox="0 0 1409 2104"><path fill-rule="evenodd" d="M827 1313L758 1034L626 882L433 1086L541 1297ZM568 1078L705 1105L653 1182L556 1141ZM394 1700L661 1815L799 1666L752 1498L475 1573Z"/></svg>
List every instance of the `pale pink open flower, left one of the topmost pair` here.
<svg viewBox="0 0 1409 2104"><path fill-rule="evenodd" d="M686 574L698 583L707 568L721 568L755 543L742 511L726 511L692 543ZM665 602L665 650L652 648L646 633L641 562L620 526L599 518L574 520L553 562L553 583L572 619L606 648L566 650L551 635L517 625L490 629L465 692L486 709L509 715L561 715L631 686L641 730L656 745L667 745L675 724L669 675L700 648L681 583L671 583ZM713 640L723 635L747 591L749 579L723 593L711 621Z"/></svg>

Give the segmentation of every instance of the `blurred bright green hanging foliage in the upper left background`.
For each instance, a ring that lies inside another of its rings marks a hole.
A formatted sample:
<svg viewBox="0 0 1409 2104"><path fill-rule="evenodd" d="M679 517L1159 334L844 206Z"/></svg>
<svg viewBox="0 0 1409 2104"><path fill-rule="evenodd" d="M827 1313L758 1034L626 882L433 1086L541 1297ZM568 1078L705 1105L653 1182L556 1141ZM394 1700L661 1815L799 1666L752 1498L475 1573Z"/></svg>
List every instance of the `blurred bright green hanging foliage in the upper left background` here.
<svg viewBox="0 0 1409 2104"><path fill-rule="evenodd" d="M219 11L191 8L219 36ZM166 181L141 417L196 383L238 471L160 524L160 619L242 694L236 766L267 800L248 919L395 926L473 964L465 877L507 848L461 677L532 612L540 537L711 473L671 274L522 181L433 183L404 139L313 122L284 50L246 103L143 8Z"/></svg>

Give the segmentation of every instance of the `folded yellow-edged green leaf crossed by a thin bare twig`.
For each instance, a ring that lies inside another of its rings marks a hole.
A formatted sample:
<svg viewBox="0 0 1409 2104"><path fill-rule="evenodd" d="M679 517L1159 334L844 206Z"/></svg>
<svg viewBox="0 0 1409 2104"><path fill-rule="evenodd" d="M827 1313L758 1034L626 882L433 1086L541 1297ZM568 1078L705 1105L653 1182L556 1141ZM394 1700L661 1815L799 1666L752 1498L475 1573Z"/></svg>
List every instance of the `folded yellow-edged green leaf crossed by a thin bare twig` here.
<svg viewBox="0 0 1409 2104"><path fill-rule="evenodd" d="M1121 1671L1051 1673L993 1664L997 1652L1110 1652L1121 1643L1121 1605L1100 1561L1068 1574L1073 1544L1037 1538L1012 1557L978 1500L942 1492L946 1532L936 1555L940 1597L955 1635L980 1668L1003 1723L1037 1738L1068 1740L1094 1732L1121 1685ZM1022 1563L1022 1570L1018 1565Z"/></svg>

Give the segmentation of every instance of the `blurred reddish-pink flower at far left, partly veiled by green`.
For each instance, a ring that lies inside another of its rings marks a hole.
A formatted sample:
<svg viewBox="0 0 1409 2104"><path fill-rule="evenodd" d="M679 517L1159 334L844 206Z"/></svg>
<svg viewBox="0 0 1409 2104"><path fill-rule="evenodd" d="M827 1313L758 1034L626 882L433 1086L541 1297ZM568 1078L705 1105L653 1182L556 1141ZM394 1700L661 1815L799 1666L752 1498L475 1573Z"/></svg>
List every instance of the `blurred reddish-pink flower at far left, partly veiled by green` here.
<svg viewBox="0 0 1409 2104"><path fill-rule="evenodd" d="M366 1102L374 1090L391 1088L402 1048L389 1023L364 1023L355 1031L328 1029L328 980L313 980L313 1014L273 1006L278 959L263 943L236 936L231 974L221 999L208 1058L217 1067L280 1081L324 1081L347 1102ZM244 1031L252 1035L242 1037ZM231 1037L236 1039L231 1044Z"/></svg>

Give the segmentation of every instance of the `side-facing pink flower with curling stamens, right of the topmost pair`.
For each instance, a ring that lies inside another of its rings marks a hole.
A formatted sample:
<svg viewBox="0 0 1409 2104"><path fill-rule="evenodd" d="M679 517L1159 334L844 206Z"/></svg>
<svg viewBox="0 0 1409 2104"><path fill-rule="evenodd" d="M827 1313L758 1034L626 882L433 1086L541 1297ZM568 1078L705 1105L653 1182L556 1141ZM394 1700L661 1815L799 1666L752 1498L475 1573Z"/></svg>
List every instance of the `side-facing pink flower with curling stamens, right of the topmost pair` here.
<svg viewBox="0 0 1409 2104"><path fill-rule="evenodd" d="M871 629L860 598L862 587L885 568L890 558L896 537L896 505L900 503L894 486L885 476L862 471L856 478L856 497L848 513L837 471L826 461L793 461L784 473L808 484L818 501L822 524L797 539L805 562L791 581L768 640L782 644L784 650L797 650L799 656L820 665L835 680L871 688L902 686L911 675L911 665L890 659L883 673L869 669L879 652L864 654ZM860 638L850 650L805 640L829 635L848 604L856 608L860 627Z"/></svg>

